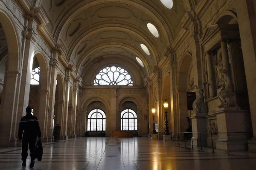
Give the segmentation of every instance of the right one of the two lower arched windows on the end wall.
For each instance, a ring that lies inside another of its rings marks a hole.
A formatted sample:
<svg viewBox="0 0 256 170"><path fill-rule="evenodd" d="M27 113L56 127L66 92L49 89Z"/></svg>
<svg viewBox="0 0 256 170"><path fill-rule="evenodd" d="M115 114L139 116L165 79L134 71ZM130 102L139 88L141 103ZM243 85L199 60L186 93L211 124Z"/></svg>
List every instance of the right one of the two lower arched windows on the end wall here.
<svg viewBox="0 0 256 170"><path fill-rule="evenodd" d="M121 112L121 130L137 130L137 114L133 110Z"/></svg>

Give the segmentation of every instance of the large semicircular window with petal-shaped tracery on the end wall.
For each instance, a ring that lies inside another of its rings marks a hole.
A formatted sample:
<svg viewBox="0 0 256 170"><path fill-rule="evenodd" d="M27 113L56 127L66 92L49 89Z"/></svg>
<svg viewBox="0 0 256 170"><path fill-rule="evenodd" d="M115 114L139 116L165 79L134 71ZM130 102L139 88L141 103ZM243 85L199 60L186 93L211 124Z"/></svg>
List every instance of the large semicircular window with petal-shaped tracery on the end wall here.
<svg viewBox="0 0 256 170"><path fill-rule="evenodd" d="M99 71L93 85L133 85L133 81L125 69L111 66Z"/></svg>

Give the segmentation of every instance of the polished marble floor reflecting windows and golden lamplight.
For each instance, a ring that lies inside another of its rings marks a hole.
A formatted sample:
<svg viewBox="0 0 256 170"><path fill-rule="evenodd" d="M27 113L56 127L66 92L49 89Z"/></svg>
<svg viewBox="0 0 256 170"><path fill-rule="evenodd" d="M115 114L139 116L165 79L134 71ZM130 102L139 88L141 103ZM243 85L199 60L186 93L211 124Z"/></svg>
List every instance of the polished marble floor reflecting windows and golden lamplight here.
<svg viewBox="0 0 256 170"><path fill-rule="evenodd" d="M0 170L21 167L21 147L0 149ZM190 150L146 137L88 137L44 143L34 170L256 170L256 153Z"/></svg>

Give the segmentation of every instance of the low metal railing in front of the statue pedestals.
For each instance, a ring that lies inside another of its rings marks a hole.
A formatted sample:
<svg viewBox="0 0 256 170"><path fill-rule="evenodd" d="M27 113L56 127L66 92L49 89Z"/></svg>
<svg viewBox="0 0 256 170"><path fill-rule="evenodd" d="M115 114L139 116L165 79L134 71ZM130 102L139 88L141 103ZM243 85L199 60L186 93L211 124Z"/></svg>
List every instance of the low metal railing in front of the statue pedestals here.
<svg viewBox="0 0 256 170"><path fill-rule="evenodd" d="M243 134L245 133L246 136L247 136L247 139L249 139L249 136L250 136L250 132L216 132L216 133L200 133L200 132L180 132L178 133L178 144L180 146L180 134L184 134L184 147L186 147L186 137L187 135L186 134L192 134L193 133L197 133L199 134L199 143L200 143L200 150L203 150L203 147L202 147L202 134L205 134L205 135L210 135L211 136L211 142L212 142L212 153L214 153L214 144L213 144L213 138L212 138L212 135L216 135L216 134ZM190 140L192 139L193 136L191 136ZM191 140L191 149L193 150L194 149L194 146L193 146L193 139Z"/></svg>

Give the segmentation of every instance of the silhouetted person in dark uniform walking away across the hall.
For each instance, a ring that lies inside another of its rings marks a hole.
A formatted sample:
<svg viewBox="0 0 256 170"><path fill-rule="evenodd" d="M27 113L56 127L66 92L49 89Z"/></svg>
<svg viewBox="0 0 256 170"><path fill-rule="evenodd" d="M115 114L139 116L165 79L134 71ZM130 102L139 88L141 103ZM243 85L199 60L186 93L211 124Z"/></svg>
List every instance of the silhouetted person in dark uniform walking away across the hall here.
<svg viewBox="0 0 256 170"><path fill-rule="evenodd" d="M32 115L32 108L26 108L26 116L22 116L19 126L19 140L22 139L22 166L26 167L26 158L28 156L28 145L30 150L31 162L29 167L34 167L35 164L35 142L38 136L41 139L41 130L38 119ZM23 133L23 136L22 136Z"/></svg>

